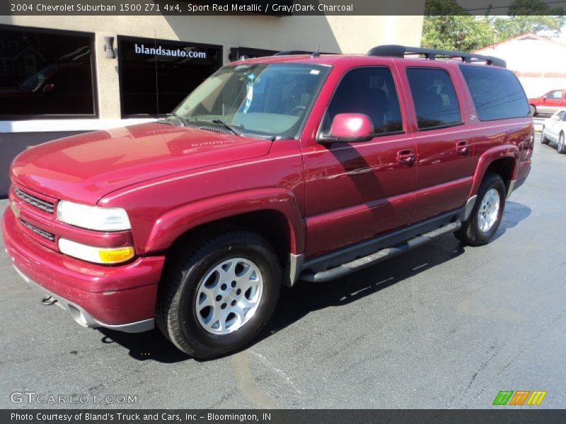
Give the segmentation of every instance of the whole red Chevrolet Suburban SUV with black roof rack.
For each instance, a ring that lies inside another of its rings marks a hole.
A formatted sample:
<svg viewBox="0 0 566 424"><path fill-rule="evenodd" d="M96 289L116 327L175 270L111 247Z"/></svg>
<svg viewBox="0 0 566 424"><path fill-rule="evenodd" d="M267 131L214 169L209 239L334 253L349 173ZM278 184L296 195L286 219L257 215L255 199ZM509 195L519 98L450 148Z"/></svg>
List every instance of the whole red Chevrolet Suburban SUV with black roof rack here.
<svg viewBox="0 0 566 424"><path fill-rule="evenodd" d="M524 91L493 57L381 46L237 61L166 119L21 153L4 242L79 324L155 320L212 358L258 334L281 285L447 232L489 242L532 149Z"/></svg>

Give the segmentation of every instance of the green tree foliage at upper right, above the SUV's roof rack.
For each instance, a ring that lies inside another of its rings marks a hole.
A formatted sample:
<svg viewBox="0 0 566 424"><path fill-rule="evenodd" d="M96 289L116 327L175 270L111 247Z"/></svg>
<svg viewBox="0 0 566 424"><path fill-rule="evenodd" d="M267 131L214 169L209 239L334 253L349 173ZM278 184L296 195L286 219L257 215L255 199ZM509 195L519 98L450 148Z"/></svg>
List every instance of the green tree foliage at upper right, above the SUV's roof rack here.
<svg viewBox="0 0 566 424"><path fill-rule="evenodd" d="M469 52L525 33L558 37L565 23L560 8L541 0L515 0L508 16L473 16L456 0L427 0L422 47Z"/></svg>

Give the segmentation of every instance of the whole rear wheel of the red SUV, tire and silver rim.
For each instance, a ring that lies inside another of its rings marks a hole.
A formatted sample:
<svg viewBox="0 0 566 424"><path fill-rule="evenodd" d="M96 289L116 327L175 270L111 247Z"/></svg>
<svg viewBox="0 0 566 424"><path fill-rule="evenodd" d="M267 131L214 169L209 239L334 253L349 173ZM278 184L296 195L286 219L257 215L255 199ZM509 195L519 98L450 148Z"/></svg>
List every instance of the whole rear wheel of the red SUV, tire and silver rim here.
<svg viewBox="0 0 566 424"><path fill-rule="evenodd" d="M470 246L489 243L501 223L506 192L498 174L487 174L478 190L478 199L470 217L454 232L456 238Z"/></svg>

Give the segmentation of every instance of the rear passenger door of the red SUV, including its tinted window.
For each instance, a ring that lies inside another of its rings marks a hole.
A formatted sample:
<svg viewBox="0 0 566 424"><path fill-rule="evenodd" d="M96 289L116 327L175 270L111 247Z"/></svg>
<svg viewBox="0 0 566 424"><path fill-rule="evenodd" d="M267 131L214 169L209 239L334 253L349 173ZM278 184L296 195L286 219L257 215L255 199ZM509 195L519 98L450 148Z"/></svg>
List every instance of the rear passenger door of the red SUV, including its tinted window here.
<svg viewBox="0 0 566 424"><path fill-rule="evenodd" d="M466 93L455 66L406 64L417 148L417 187L412 221L454 210L466 203L478 163L465 124Z"/></svg>

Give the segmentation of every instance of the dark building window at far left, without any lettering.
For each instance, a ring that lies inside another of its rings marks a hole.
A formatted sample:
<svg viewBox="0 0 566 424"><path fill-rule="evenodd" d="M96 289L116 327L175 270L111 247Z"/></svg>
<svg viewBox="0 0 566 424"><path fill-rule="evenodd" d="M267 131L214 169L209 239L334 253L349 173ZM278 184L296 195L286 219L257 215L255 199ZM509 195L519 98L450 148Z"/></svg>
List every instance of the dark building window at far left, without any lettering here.
<svg viewBox="0 0 566 424"><path fill-rule="evenodd" d="M96 117L91 33L0 25L0 119Z"/></svg>

